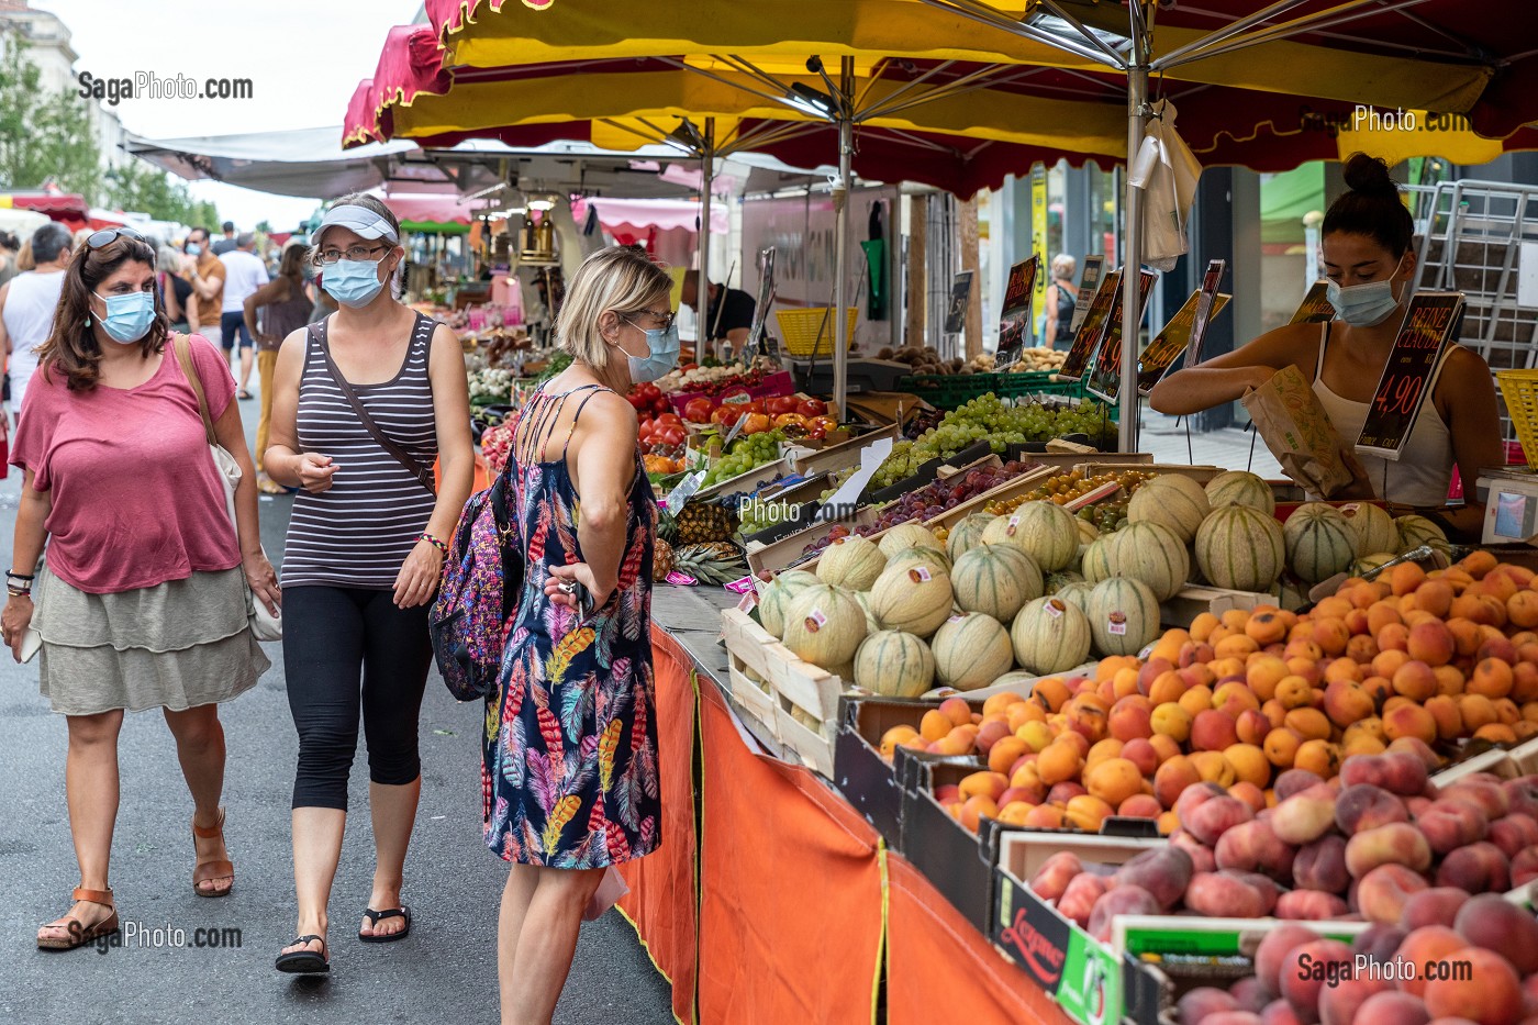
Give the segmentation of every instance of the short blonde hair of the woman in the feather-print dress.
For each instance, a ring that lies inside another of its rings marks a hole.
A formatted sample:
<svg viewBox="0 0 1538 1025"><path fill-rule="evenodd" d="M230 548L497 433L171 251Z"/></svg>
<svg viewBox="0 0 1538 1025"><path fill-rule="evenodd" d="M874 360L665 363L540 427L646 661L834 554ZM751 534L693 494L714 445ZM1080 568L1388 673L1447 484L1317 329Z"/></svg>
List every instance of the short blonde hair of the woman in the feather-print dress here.
<svg viewBox="0 0 1538 1025"><path fill-rule="evenodd" d="M609 343L598 319L614 311L631 319L672 292L672 277L638 246L598 249L577 268L555 320L563 351L594 369L609 365Z"/></svg>

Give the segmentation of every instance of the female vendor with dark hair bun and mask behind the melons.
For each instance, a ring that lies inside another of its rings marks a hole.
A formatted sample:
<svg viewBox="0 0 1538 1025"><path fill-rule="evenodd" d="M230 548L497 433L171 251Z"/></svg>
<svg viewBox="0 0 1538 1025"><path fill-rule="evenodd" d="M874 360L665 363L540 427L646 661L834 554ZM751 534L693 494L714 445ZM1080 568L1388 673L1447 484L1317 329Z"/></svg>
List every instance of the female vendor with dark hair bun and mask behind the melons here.
<svg viewBox="0 0 1538 1025"><path fill-rule="evenodd" d="M1149 403L1160 412L1190 414L1240 399L1289 365L1312 371L1313 391L1355 476L1329 497L1380 497L1395 516L1413 509L1452 540L1476 542L1484 508L1475 500L1473 482L1480 468L1504 460L1495 385L1475 352L1447 346L1432 379L1432 400L1423 405L1398 462L1352 451L1413 291L1415 226L1383 160L1358 152L1344 172L1350 189L1324 215L1321 245L1335 320L1277 328L1233 352L1170 374L1154 388ZM1461 506L1447 505L1453 466L1464 486Z"/></svg>

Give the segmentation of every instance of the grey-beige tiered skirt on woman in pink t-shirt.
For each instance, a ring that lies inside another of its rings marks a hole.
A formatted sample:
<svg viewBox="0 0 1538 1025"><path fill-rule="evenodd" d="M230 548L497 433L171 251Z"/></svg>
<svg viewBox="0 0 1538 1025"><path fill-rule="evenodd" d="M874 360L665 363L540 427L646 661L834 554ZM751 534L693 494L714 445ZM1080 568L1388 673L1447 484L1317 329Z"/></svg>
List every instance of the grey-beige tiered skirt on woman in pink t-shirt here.
<svg viewBox="0 0 1538 1025"><path fill-rule="evenodd" d="M43 637L40 689L66 716L228 702L272 665L248 626L240 566L89 594L45 563L32 626Z"/></svg>

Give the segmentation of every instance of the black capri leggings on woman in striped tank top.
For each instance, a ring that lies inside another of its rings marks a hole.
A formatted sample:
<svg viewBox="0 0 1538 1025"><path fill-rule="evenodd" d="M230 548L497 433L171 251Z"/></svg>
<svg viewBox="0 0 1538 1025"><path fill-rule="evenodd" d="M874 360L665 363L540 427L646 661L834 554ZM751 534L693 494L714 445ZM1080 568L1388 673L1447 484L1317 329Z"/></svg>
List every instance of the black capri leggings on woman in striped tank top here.
<svg viewBox="0 0 1538 1025"><path fill-rule="evenodd" d="M395 608L392 599L392 591L365 588L283 588L283 674L298 730L295 808L348 806L360 669L369 779L400 786L421 774L429 606Z"/></svg>

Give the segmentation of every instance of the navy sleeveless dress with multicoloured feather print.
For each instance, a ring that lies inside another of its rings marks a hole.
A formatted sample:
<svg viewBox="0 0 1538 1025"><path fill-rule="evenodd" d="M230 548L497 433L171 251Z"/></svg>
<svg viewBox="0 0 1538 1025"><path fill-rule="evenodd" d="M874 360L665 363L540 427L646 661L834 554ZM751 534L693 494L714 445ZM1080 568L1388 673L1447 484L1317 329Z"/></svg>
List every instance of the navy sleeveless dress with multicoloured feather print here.
<svg viewBox="0 0 1538 1025"><path fill-rule="evenodd" d="M509 456L528 569L501 677L486 700L481 796L486 845L524 865L603 868L661 842L651 651L655 499L638 452L614 596L588 619L544 597L549 566L581 562L581 509L566 451L544 460L544 443L561 406L575 399L581 416L597 391L537 392Z"/></svg>

